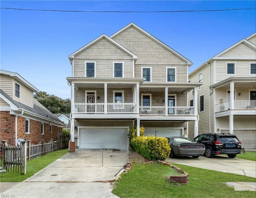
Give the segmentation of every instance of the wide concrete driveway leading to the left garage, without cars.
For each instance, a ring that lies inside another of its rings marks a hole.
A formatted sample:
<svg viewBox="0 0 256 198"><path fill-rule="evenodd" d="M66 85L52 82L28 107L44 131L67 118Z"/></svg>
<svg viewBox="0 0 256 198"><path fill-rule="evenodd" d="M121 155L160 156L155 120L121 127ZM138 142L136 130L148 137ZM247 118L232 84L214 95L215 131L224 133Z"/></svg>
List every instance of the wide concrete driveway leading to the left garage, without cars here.
<svg viewBox="0 0 256 198"><path fill-rule="evenodd" d="M1 197L116 198L112 182L127 164L128 153L112 149L77 149L40 170ZM2 188L1 183L1 188Z"/></svg>

